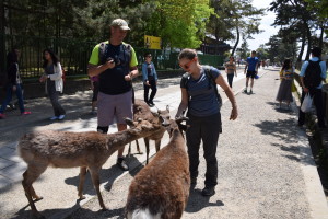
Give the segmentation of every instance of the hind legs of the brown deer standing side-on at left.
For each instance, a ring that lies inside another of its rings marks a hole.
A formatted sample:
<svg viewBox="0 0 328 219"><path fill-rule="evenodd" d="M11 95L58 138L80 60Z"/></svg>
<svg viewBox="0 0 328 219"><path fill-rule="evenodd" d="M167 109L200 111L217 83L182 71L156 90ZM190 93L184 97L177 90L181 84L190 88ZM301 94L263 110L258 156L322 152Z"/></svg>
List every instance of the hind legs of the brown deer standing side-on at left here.
<svg viewBox="0 0 328 219"><path fill-rule="evenodd" d="M36 165L28 164L27 170L23 173L22 185L25 191L25 196L30 203L32 214L36 218L44 218L44 216L42 216L36 209L33 198L35 198L35 200L39 200L42 197L36 195L32 184L40 176L43 172L45 172L46 169L47 165L42 165L40 163Z"/></svg>

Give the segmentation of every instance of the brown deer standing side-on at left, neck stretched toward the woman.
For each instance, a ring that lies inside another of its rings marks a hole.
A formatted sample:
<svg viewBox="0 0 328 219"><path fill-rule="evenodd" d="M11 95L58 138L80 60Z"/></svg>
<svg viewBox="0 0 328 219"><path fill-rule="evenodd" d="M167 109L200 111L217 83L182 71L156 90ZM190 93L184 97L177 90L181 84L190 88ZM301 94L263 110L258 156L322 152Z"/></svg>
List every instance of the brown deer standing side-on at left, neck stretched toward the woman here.
<svg viewBox="0 0 328 219"><path fill-rule="evenodd" d="M131 127L115 134L99 134L96 131L71 132L60 130L43 130L25 134L19 141L17 150L20 157L27 164L23 173L22 185L30 203L33 215L44 218L35 207L34 201L43 199L38 196L33 183L46 171L48 166L54 168L79 168L80 178L78 196L84 199L83 185L86 169L96 191L99 206L106 209L99 191L99 170L107 159L118 149L138 138L147 137L159 127L148 120L133 122L125 119Z"/></svg>

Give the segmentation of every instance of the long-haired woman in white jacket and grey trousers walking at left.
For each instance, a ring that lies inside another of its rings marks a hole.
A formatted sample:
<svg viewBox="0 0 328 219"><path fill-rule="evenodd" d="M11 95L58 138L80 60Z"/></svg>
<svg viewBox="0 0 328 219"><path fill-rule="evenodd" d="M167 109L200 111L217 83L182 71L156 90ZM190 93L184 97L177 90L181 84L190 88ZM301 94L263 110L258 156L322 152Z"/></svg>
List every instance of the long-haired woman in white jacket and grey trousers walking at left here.
<svg viewBox="0 0 328 219"><path fill-rule="evenodd" d="M52 105L54 116L50 117L50 120L62 120L66 112L58 101L59 94L62 93L63 90L61 65L58 57L49 48L44 50L43 59L45 73L39 78L39 81L46 82L46 93Z"/></svg>

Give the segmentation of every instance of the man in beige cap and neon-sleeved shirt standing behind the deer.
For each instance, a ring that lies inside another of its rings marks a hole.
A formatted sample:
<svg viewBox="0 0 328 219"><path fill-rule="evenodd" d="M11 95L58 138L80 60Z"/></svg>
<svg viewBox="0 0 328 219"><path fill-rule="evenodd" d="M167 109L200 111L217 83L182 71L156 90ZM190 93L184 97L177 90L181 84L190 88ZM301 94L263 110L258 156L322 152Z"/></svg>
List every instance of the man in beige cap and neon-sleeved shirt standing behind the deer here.
<svg viewBox="0 0 328 219"><path fill-rule="evenodd" d="M122 19L110 24L109 41L97 44L89 60L87 74L98 76L97 131L107 134L116 120L118 131L126 130L124 117L132 118L132 83L138 76L138 61L131 45L124 43L130 27ZM118 150L117 165L129 170L125 162L124 147Z"/></svg>

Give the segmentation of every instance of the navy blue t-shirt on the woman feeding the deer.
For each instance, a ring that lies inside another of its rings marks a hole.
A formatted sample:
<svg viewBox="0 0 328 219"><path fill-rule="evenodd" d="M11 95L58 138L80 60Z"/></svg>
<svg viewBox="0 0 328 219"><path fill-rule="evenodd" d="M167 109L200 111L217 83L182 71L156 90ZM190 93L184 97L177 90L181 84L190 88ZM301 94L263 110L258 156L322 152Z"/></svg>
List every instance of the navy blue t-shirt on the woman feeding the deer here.
<svg viewBox="0 0 328 219"><path fill-rule="evenodd" d="M210 72L213 76L213 79L216 79L221 72L211 67ZM187 89L188 94L190 95L188 103L188 113L194 116L210 116L220 112L220 103L213 85L209 89L209 83L212 84L212 79L209 79L204 73L202 68L200 71L200 77L197 80L194 80L192 77L189 77L187 84L184 84L183 80L180 88Z"/></svg>

